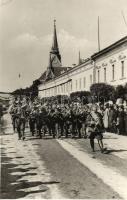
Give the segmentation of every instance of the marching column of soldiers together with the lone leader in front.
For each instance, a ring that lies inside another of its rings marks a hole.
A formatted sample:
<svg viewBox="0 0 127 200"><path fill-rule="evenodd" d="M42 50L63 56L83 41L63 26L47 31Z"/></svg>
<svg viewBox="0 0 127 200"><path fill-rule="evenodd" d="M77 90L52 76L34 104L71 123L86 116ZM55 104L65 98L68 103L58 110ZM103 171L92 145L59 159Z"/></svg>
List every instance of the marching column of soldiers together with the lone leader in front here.
<svg viewBox="0 0 127 200"><path fill-rule="evenodd" d="M82 103L58 104L42 103L29 98L14 99L10 114L14 131L18 138L25 139L25 128L29 127L31 135L40 138L47 135L52 138L89 138L94 151L94 139L98 141L103 152L104 114L107 107L83 105Z"/></svg>

